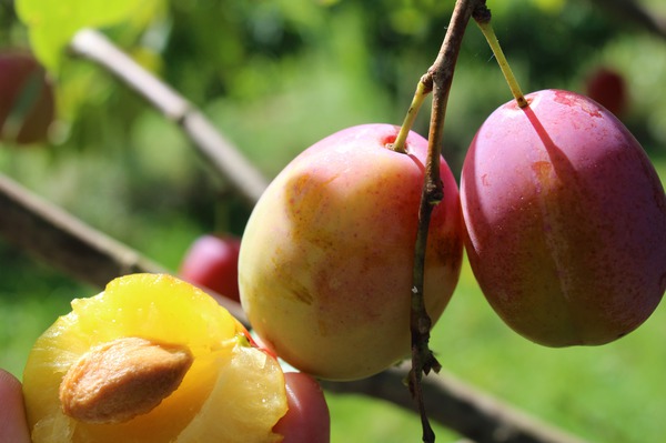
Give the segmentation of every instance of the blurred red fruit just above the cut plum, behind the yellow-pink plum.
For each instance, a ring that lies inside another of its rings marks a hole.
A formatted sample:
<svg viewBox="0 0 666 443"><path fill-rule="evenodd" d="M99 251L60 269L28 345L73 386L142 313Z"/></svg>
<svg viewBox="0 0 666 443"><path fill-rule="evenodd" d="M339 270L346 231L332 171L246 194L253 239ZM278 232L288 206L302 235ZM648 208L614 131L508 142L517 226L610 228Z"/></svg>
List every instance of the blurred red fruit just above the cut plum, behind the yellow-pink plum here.
<svg viewBox="0 0 666 443"><path fill-rule="evenodd" d="M240 301L240 249L241 239L233 235L202 235L192 243L185 253L179 273L190 283Z"/></svg>

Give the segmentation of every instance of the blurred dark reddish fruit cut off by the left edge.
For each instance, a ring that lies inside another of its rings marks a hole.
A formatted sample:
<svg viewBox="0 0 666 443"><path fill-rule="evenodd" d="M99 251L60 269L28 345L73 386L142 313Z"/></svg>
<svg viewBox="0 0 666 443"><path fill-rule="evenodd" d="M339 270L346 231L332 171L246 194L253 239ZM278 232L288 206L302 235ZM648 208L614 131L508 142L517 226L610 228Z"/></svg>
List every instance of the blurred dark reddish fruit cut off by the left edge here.
<svg viewBox="0 0 666 443"><path fill-rule="evenodd" d="M0 53L0 140L44 141L53 115L53 85L39 62L26 52Z"/></svg>

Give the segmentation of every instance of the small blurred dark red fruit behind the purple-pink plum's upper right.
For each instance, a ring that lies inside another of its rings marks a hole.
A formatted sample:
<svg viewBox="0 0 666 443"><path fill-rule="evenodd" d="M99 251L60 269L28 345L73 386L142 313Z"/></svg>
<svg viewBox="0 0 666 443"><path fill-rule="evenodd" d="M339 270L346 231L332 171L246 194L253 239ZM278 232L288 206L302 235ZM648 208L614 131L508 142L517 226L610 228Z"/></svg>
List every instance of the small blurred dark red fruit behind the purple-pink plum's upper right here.
<svg viewBox="0 0 666 443"><path fill-rule="evenodd" d="M614 69L601 67L593 71L586 79L585 94L617 117L627 110L627 84Z"/></svg>

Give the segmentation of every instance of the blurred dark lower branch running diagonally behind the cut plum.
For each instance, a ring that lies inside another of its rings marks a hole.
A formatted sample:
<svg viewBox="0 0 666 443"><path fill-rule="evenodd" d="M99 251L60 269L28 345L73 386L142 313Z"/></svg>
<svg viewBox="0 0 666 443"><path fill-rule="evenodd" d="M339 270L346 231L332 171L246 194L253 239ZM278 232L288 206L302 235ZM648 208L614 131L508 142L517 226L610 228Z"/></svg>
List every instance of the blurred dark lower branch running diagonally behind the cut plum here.
<svg viewBox="0 0 666 443"><path fill-rule="evenodd" d="M0 177L0 233L6 239L92 286L103 288L109 280L131 272L164 272L140 252L109 239L4 177ZM220 295L215 300L248 324L239 303ZM355 382L324 381L322 385L329 392L373 396L412 410L412 400L401 383L408 371L402 366ZM441 373L424 383L431 417L477 443L498 443L497 435L504 435L502 443L583 443L451 374Z"/></svg>

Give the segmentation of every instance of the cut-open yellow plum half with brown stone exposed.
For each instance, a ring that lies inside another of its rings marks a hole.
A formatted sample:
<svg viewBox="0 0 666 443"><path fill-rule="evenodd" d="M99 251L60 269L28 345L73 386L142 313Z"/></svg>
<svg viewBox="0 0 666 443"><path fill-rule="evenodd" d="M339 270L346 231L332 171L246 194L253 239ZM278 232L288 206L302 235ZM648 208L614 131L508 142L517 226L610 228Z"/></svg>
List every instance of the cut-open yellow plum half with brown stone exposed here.
<svg viewBox="0 0 666 443"><path fill-rule="evenodd" d="M276 442L284 375L189 283L134 274L72 302L23 373L34 443Z"/></svg>

